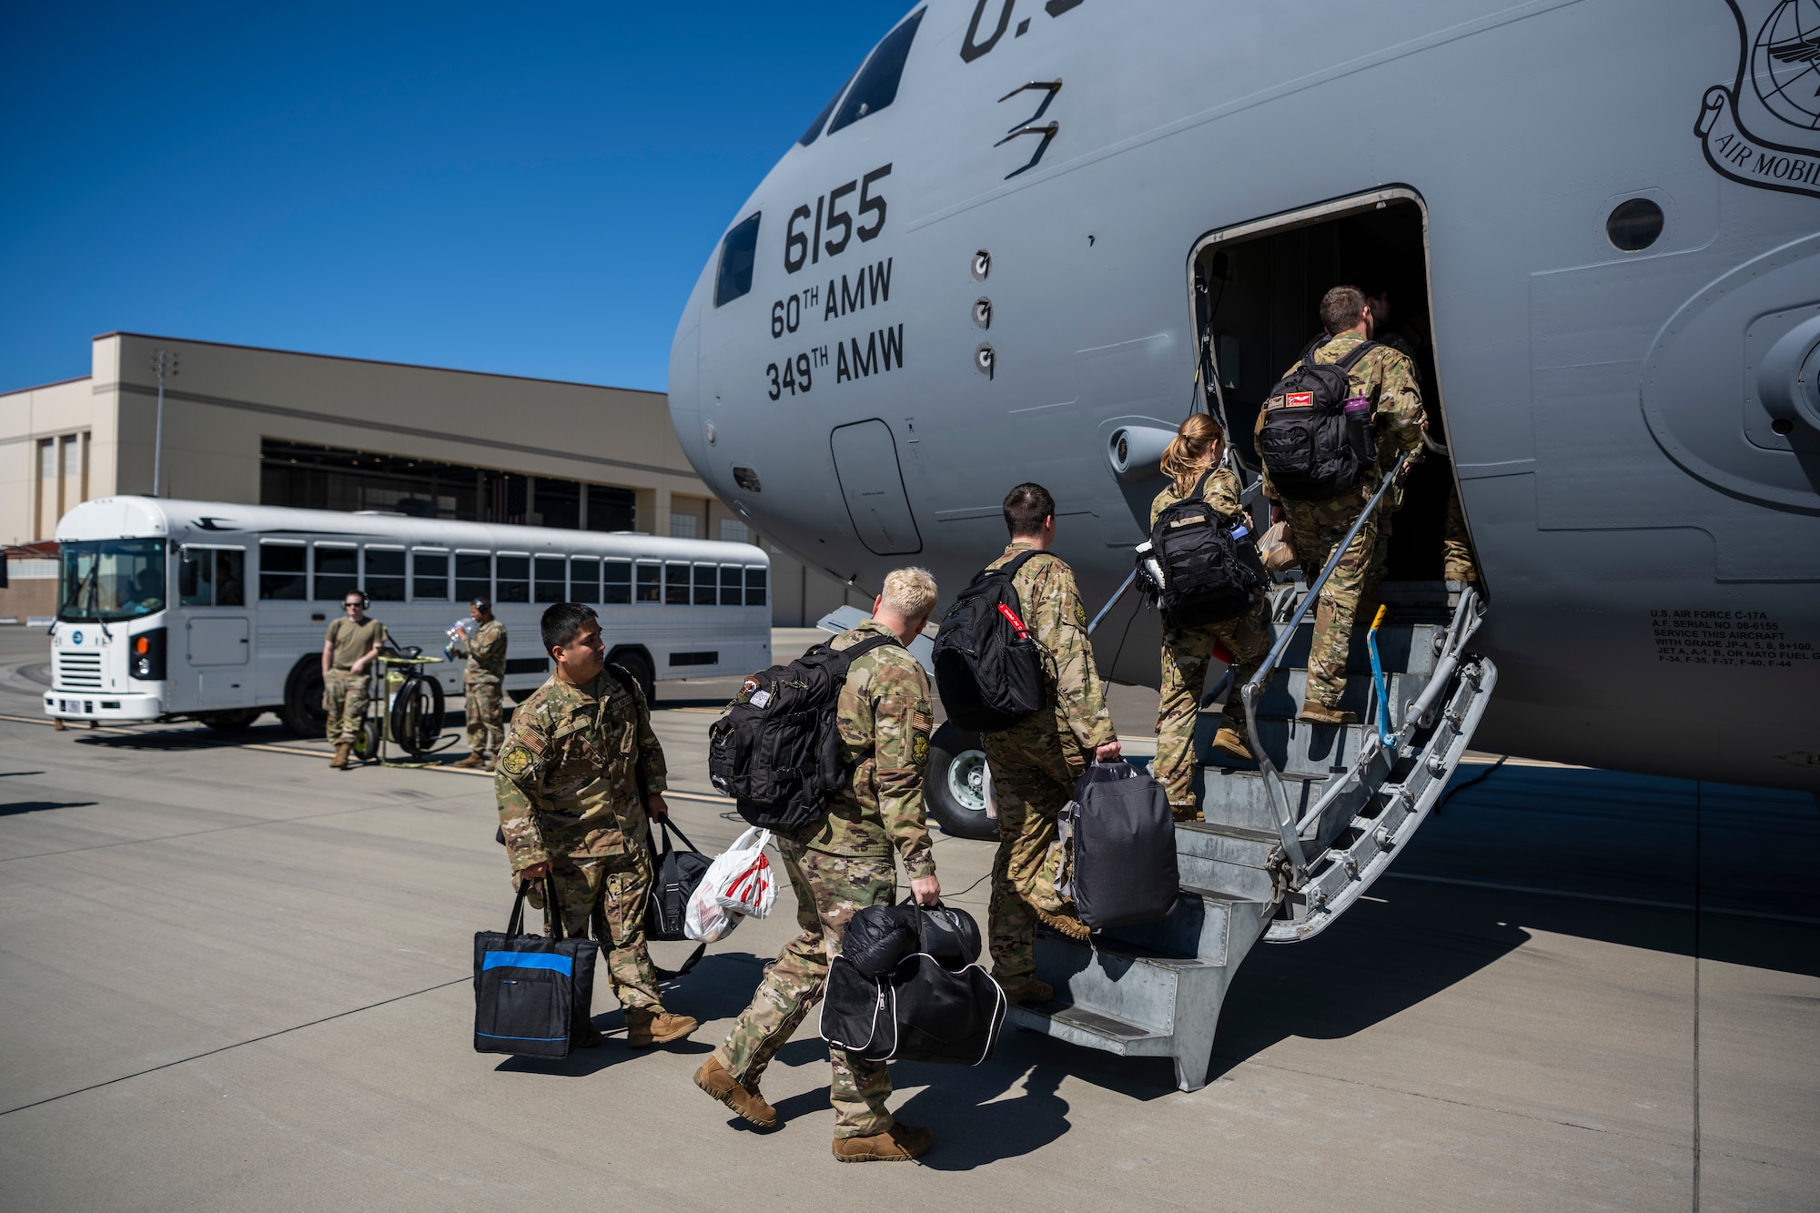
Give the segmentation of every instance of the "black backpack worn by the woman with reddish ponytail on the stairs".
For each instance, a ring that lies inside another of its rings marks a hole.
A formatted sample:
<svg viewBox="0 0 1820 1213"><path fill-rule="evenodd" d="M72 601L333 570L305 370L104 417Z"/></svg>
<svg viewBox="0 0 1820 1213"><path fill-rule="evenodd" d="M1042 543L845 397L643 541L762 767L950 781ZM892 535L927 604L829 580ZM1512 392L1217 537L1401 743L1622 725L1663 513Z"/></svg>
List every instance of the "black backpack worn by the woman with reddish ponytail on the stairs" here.
<svg viewBox="0 0 1820 1213"><path fill-rule="evenodd" d="M1172 628L1236 619L1270 583L1245 519L1228 523L1201 497L1212 474L1150 525L1150 556L1163 570L1156 601Z"/></svg>

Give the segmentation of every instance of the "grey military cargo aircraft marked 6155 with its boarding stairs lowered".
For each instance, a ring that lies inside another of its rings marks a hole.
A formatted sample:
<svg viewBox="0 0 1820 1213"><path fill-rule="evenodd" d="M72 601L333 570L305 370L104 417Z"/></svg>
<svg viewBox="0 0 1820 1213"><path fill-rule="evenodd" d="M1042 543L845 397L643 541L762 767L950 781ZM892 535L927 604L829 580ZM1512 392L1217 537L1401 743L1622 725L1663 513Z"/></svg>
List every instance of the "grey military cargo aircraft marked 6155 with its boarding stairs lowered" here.
<svg viewBox="0 0 1820 1213"><path fill-rule="evenodd" d="M1203 769L1194 896L1128 936L1158 980L1045 938L1057 1004L1019 1009L1190 1087L1245 949L1350 905L1469 739L1820 790L1816 200L1820 0L930 0L732 217L670 406L723 499L857 586L921 563L952 592L1043 483L1114 605L1101 668L1154 685L1156 614L1116 596L1163 443L1210 410L1254 479L1323 291L1392 301L1434 441L1367 723L1294 719L1287 583L1276 681L1227 690L1259 769ZM935 750L932 809L990 832L977 743Z"/></svg>

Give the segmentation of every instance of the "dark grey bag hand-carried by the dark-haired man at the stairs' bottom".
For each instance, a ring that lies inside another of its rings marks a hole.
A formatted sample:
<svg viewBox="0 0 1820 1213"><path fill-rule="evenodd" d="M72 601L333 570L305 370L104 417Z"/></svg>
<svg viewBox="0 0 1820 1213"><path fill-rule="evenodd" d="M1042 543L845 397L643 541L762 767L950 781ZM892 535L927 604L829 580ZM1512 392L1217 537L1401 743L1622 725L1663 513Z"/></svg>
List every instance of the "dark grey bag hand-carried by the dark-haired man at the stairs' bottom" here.
<svg viewBox="0 0 1820 1213"><path fill-rule="evenodd" d="M1168 792L1127 761L1094 763L1074 783L1057 827L1057 892L1094 931L1154 922L1181 889Z"/></svg>

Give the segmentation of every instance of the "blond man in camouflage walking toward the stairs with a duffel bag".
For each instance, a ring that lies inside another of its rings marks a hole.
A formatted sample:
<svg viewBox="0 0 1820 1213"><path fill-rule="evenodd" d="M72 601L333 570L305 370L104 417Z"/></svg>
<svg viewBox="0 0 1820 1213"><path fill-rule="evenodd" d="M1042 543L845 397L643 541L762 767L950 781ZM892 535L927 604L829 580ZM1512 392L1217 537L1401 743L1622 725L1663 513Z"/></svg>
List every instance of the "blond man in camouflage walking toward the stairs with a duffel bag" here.
<svg viewBox="0 0 1820 1213"><path fill-rule="evenodd" d="M923 769L934 714L928 676L910 656L935 608L935 579L923 568L885 577L872 617L830 641L835 650L888 634L846 672L835 705L841 743L854 778L828 805L828 816L775 845L797 900L801 934L790 940L741 1013L726 1044L695 1071L695 1086L741 1118L777 1124L777 1109L759 1095L759 1078L803 1018L821 1000L828 960L841 951L846 922L866 905L897 896L894 854L921 905L935 905L941 882L923 820ZM892 1078L885 1062L830 1049L834 1065L834 1157L841 1162L903 1162L930 1147L928 1129L899 1124L885 1109Z"/></svg>

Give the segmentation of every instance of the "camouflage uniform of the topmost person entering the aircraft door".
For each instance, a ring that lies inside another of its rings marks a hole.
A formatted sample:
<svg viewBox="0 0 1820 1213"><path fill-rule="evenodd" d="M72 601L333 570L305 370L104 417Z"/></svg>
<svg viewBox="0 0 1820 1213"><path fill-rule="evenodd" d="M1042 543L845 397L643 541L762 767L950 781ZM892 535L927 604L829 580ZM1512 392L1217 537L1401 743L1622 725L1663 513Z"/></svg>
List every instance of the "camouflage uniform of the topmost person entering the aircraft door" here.
<svg viewBox="0 0 1820 1213"><path fill-rule="evenodd" d="M1314 352L1314 361L1338 362L1361 341L1365 341L1361 333L1340 333ZM1296 556L1301 557L1301 566L1310 583L1327 566L1327 559L1403 452L1421 450L1421 392L1416 388L1416 364L1409 361L1409 355L1380 346L1352 366L1349 381L1354 397L1363 395L1372 403L1372 433L1378 446L1378 463L1352 492L1329 497L1327 501L1283 501L1290 545L1296 548ZM1263 430L1267 417L1269 408L1258 412L1254 433ZM1265 495L1276 499L1269 466L1265 468ZM1403 484L1398 481L1385 494L1385 501L1378 506L1378 512L1360 526L1360 534L1352 537L1345 556L1340 559L1340 566L1334 568L1334 576L1321 588L1314 614L1314 643L1309 650L1309 699L1312 701L1327 707L1340 705L1340 694L1347 687L1347 648L1352 645L1352 617L1358 612L1360 596L1370 577L1372 556L1378 548L1378 530L1401 501Z"/></svg>

